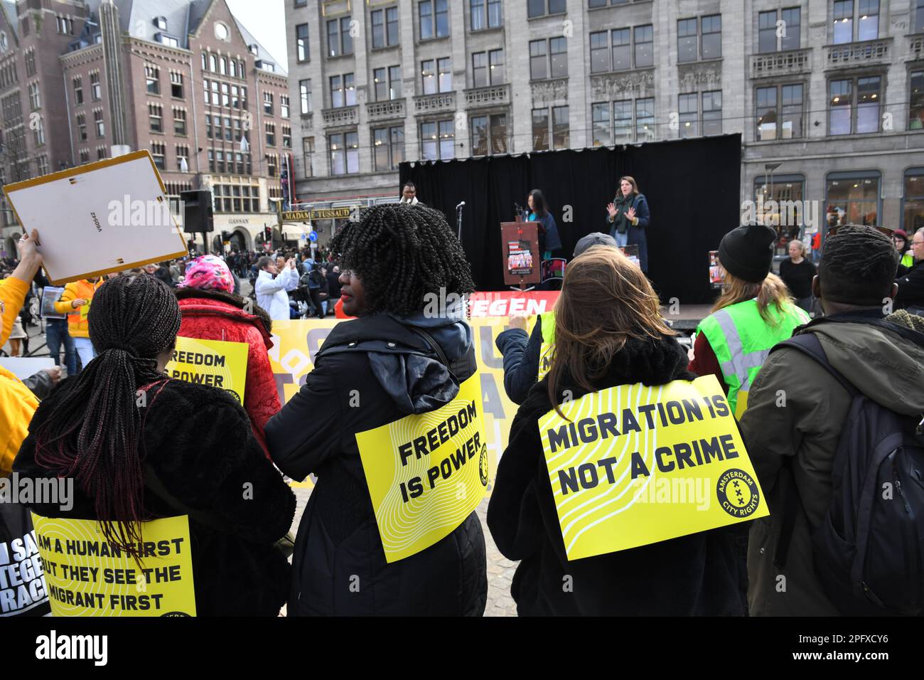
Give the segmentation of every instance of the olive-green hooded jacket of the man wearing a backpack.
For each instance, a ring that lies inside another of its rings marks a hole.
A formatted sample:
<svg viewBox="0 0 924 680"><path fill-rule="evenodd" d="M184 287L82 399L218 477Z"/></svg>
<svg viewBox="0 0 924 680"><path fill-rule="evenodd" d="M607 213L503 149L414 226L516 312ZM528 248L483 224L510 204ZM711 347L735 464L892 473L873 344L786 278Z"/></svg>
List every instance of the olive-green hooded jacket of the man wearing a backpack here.
<svg viewBox="0 0 924 680"><path fill-rule="evenodd" d="M881 318L880 313L869 315ZM847 321L845 319L849 318ZM906 328L914 317L886 321ZM924 320L917 319L918 324ZM833 315L796 329L814 333L833 367L869 399L898 414L924 414L924 334L872 326L862 315ZM918 340L909 340L919 336ZM784 390L785 407L780 407ZM835 616L812 561L812 527L831 504L832 467L852 399L821 365L798 350L772 352L751 385L740 429L770 516L755 520L748 542L748 603L755 616ZM785 494L796 485L793 529L784 568L773 565ZM786 587L779 589L779 576Z"/></svg>

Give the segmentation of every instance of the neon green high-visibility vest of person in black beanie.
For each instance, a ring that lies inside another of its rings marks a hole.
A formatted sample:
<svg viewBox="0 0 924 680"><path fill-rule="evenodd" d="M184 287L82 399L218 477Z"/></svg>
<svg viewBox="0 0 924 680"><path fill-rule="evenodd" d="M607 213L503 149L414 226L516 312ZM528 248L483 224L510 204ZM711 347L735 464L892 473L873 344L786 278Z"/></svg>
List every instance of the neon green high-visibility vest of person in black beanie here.
<svg viewBox="0 0 924 680"><path fill-rule="evenodd" d="M767 313L777 321L775 326L760 316L756 300L747 300L707 316L697 328L697 334L704 333L715 352L728 386L728 403L737 418L748 408L751 382L773 345L788 340L796 327L811 320L804 310L790 303L784 304L783 314L776 305L767 307Z"/></svg>

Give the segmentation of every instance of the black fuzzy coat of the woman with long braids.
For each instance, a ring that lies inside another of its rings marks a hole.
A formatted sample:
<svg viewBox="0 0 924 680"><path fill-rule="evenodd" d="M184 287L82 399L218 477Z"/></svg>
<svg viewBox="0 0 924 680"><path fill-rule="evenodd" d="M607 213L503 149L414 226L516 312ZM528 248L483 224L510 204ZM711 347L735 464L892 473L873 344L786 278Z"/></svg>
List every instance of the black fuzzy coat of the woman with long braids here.
<svg viewBox="0 0 924 680"><path fill-rule="evenodd" d="M35 462L32 433L55 417L61 394L60 387L55 389L32 417L30 434L13 462L19 475L49 476ZM141 436L145 464L174 499L196 513L189 517L189 539L197 614L278 615L290 567L274 542L292 525L295 495L266 459L247 414L230 394L169 380L148 395ZM253 485L250 497L242 492L247 483ZM67 512L57 505L31 509L45 517L95 519L93 501L77 483L74 496ZM144 490L144 508L151 519L181 514L150 488Z"/></svg>

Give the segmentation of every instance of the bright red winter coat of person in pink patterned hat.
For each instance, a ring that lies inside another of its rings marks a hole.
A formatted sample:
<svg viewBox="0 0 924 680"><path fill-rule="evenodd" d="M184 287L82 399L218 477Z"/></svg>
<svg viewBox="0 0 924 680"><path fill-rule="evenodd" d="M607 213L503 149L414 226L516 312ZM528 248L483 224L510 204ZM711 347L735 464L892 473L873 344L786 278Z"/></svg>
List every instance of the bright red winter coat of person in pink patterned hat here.
<svg viewBox="0 0 924 680"><path fill-rule="evenodd" d="M270 338L273 321L256 304L254 313L248 314L244 311L244 299L231 293L184 288L176 291L176 297L183 312L178 335L249 344L244 410L250 416L254 436L269 458L263 427L282 409L267 353L273 347Z"/></svg>

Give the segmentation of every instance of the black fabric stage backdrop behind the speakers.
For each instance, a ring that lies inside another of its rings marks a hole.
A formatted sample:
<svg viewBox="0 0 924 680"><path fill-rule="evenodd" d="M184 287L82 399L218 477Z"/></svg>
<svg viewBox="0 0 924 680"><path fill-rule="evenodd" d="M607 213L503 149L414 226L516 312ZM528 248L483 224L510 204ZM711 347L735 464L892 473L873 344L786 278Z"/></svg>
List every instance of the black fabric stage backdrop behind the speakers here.
<svg viewBox="0 0 924 680"><path fill-rule="evenodd" d="M604 231L606 205L619 178L631 175L648 198L649 276L662 301L711 303L709 251L740 223L741 135L650 142L615 149L542 152L465 160L402 163L402 184L417 185L420 201L441 210L457 229L456 205L466 202L462 246L479 291L504 291L501 222L533 189L550 205L563 251L591 231ZM565 222L565 205L572 221Z"/></svg>

